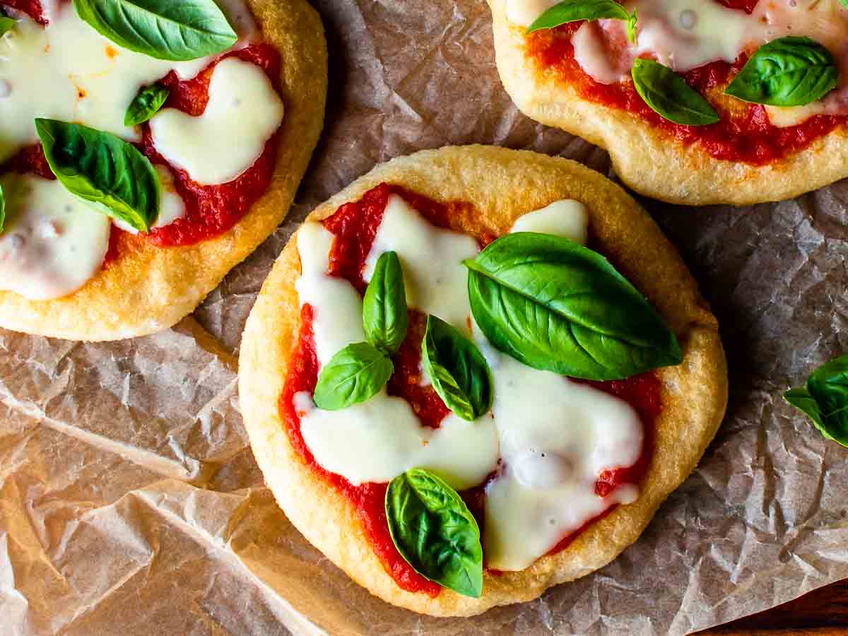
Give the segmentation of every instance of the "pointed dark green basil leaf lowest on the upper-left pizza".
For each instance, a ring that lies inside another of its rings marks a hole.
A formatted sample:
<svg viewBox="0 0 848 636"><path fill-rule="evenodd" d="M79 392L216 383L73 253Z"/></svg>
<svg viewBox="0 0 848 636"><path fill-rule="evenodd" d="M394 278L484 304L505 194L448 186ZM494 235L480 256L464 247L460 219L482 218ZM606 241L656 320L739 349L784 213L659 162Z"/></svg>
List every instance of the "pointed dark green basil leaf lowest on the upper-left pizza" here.
<svg viewBox="0 0 848 636"><path fill-rule="evenodd" d="M161 185L147 157L109 132L36 119L44 155L69 192L104 214L148 232L159 216Z"/></svg>

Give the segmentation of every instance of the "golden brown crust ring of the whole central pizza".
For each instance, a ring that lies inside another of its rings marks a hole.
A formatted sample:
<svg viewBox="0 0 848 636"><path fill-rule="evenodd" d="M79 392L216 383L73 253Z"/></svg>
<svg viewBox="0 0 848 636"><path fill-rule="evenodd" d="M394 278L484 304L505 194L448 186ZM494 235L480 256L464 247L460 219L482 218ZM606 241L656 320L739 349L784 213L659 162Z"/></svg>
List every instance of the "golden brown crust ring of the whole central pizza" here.
<svg viewBox="0 0 848 636"><path fill-rule="evenodd" d="M265 481L289 519L312 544L383 600L436 616L468 616L494 605L532 600L555 583L605 566L633 543L662 500L692 471L717 431L727 403L727 371L717 322L695 280L653 220L620 187L567 159L485 146L442 148L394 159L339 192L310 215L320 220L379 183L410 188L437 201L467 201L489 232L503 233L523 213L561 198L589 208L590 235L645 293L680 338L683 364L659 371L665 404L657 420L654 460L639 500L621 506L566 550L523 572L485 577L483 597L445 589L437 598L399 589L366 541L348 499L315 477L297 455L277 408L288 356L298 339L292 239L277 260L248 319L239 393L251 446Z"/></svg>

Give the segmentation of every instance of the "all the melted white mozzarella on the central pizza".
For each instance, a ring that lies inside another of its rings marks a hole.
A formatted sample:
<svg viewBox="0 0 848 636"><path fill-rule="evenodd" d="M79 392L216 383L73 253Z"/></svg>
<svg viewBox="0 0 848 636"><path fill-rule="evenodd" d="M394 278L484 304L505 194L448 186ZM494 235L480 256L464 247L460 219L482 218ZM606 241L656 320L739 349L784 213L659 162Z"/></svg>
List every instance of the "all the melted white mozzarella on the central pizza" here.
<svg viewBox="0 0 848 636"><path fill-rule="evenodd" d="M517 220L513 231L549 232L585 243L587 226L583 204L557 201ZM298 234L303 273L297 289L300 302L313 306L322 365L346 344L365 339L359 294L349 282L326 274L332 241L332 234L314 223ZM411 306L436 315L441 311L466 329L473 324L466 273L451 268L477 254L476 242L432 226L393 197L368 255L366 277L388 250L404 265ZM594 486L605 469L638 460L642 427L621 399L500 354L476 326L473 338L492 368L495 395L493 409L477 421L450 415L436 430L421 427L410 405L385 391L340 411L315 408L308 393L298 393L294 405L315 460L352 483L387 482L423 467L455 488L468 488L498 468L486 488L487 560L497 569L519 570L610 505L636 499L633 486L616 488L606 498L598 497Z"/></svg>

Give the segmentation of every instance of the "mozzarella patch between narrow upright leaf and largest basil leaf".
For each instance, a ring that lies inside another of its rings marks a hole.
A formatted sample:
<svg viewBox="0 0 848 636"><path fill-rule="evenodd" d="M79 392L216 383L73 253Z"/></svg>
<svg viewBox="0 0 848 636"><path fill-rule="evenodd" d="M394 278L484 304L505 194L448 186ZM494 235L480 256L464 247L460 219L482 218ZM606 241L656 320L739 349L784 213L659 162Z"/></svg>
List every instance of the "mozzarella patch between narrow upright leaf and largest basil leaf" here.
<svg viewBox="0 0 848 636"><path fill-rule="evenodd" d="M366 282L371 280L377 259L389 251L398 253L403 266L407 304L467 332L471 306L468 274L462 261L477 256L477 241L433 226L393 194L365 260Z"/></svg>

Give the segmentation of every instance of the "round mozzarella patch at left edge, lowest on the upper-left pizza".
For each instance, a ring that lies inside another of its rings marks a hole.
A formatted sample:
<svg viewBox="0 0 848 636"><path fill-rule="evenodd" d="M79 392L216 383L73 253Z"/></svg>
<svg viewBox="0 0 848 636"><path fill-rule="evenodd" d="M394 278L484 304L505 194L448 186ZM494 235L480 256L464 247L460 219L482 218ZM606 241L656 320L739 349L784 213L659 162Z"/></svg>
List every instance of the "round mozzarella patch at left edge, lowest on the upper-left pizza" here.
<svg viewBox="0 0 848 636"><path fill-rule="evenodd" d="M31 300L61 298L98 273L109 250L109 219L59 181L3 176L6 223L0 234L0 289Z"/></svg>

